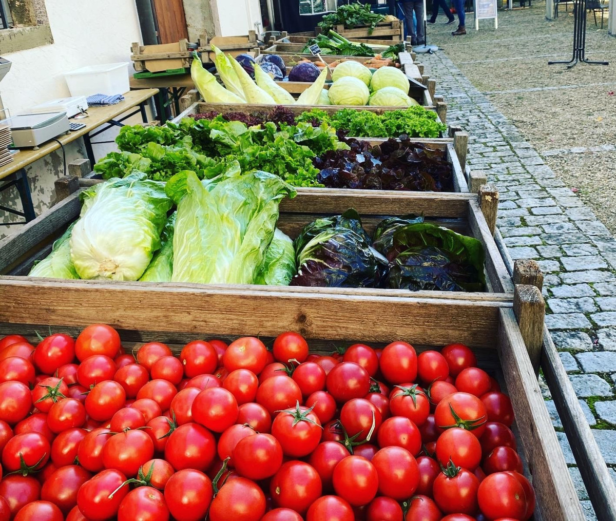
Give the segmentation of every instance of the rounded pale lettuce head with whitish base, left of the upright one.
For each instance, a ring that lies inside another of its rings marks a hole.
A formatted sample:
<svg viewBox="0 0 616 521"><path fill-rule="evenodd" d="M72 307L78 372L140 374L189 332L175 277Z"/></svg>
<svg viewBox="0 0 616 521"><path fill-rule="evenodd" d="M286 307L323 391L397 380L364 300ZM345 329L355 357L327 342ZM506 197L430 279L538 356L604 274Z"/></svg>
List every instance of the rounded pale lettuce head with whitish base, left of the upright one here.
<svg viewBox="0 0 616 521"><path fill-rule="evenodd" d="M81 198L81 217L70 239L79 277L139 279L161 246L171 208L164 184L133 172L94 185Z"/></svg>

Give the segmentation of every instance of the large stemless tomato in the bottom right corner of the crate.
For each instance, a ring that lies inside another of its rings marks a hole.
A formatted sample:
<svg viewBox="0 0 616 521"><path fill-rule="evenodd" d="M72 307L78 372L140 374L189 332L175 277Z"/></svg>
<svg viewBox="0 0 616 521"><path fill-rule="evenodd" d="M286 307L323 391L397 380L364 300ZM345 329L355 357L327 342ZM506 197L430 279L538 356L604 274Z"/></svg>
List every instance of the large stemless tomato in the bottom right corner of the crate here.
<svg viewBox="0 0 616 521"><path fill-rule="evenodd" d="M479 485L479 509L488 519L511 517L523 519L526 495L521 483L508 472L488 475Z"/></svg>

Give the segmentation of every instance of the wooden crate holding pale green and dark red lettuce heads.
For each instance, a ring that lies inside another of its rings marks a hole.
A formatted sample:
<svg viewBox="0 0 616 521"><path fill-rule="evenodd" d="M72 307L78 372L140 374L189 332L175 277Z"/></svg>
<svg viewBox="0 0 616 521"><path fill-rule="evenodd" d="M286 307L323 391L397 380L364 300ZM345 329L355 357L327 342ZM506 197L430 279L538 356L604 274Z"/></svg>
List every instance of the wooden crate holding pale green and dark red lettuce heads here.
<svg viewBox="0 0 616 521"><path fill-rule="evenodd" d="M97 182L83 180L82 184ZM100 181L99 181L100 182ZM78 187L73 185L73 189ZM503 259L493 240L493 224L496 220L495 206L498 192L488 187L479 196L471 193L436 193L436 192L391 192L387 190L347 190L336 188L297 188L294 199L284 199L280 204L280 217L277 227L291 238L298 236L304 225L318 217L341 214L349 208L355 208L362 216L362 222L371 235L376 224L385 217L416 214L425 217L427 222L443 225L459 233L470 235L479 240L485 251L485 293L456 293L459 295L476 295L479 299L513 298L513 285ZM481 205L481 206L480 206ZM52 242L58 238L81 211L79 192L72 193L47 212L26 224L17 233L0 241L0 274L26 275L34 263L47 256ZM486 212L488 219L484 217ZM491 212L491 213L488 213ZM67 285L75 281L63 281ZM121 283L122 284L122 283ZM172 284L169 287L182 285ZM232 285L227 286L232 288ZM254 291L272 291L267 286L250 286ZM276 288L275 291L298 291L297 288ZM307 288L301 291L309 291ZM406 298L416 293L445 299L452 298L455 292L422 291L411 292L398 289L341 289L315 288L320 294L377 294L396 298ZM496 296L490 294L497 294Z"/></svg>

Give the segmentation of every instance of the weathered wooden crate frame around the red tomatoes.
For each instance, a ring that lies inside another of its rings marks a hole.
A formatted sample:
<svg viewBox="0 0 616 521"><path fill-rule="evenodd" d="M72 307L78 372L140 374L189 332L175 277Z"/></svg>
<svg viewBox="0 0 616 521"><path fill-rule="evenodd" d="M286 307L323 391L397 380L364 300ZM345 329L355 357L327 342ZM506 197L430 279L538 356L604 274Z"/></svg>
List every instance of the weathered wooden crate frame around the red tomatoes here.
<svg viewBox="0 0 616 521"><path fill-rule="evenodd" d="M521 296L533 291L540 297L534 286L519 286ZM333 342L379 347L404 340L418 350L463 342L511 398L521 456L537 493L534 519L585 519L509 302L8 277L0 279L0 296L2 335L34 337L48 326L75 335L103 322L118 328L126 349L164 341L177 353L187 341L212 336L259 336L269 344L283 331L301 333L317 352L331 351Z"/></svg>

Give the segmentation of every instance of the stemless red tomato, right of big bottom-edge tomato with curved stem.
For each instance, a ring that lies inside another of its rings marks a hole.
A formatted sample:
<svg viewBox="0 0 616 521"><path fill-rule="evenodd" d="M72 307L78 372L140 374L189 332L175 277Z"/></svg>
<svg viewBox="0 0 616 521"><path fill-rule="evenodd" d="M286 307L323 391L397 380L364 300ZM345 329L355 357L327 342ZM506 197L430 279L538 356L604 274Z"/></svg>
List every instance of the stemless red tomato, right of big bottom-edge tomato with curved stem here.
<svg viewBox="0 0 616 521"><path fill-rule="evenodd" d="M275 506L305 514L322 491L321 478L314 467L303 461L288 461L272 478L270 494Z"/></svg>

